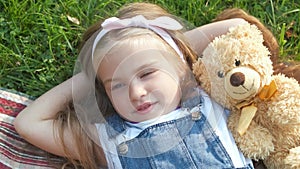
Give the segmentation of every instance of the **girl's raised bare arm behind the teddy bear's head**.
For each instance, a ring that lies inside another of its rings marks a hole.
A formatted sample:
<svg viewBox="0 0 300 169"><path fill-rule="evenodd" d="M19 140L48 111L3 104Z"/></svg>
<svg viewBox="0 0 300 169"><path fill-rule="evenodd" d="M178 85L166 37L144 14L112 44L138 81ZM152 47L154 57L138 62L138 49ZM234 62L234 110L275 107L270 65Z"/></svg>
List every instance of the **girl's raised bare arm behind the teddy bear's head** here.
<svg viewBox="0 0 300 169"><path fill-rule="evenodd" d="M234 18L200 26L185 32L193 50L200 56L207 45L217 36L228 32L230 27L246 23L244 19Z"/></svg>

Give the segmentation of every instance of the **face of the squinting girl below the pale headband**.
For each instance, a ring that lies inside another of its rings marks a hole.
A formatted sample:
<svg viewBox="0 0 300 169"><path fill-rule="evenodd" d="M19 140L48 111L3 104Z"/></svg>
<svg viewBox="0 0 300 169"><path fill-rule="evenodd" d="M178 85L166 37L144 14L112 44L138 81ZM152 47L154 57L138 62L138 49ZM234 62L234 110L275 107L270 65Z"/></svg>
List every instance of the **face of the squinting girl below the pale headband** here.
<svg viewBox="0 0 300 169"><path fill-rule="evenodd" d="M106 55L99 65L97 74L109 99L128 121L159 117L180 103L179 76L172 65L174 61L166 59L177 56L162 51L159 45L158 40L138 47L122 45Z"/></svg>

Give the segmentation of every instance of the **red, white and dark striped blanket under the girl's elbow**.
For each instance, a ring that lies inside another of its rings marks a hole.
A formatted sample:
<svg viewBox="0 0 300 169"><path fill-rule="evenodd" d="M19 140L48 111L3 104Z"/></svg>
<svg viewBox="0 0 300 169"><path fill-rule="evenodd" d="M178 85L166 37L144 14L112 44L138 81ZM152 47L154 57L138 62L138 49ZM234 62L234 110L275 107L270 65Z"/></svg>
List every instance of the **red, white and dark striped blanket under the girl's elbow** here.
<svg viewBox="0 0 300 169"><path fill-rule="evenodd" d="M0 169L51 168L49 160L54 157L22 139L13 126L14 118L31 102L25 95L0 89Z"/></svg>

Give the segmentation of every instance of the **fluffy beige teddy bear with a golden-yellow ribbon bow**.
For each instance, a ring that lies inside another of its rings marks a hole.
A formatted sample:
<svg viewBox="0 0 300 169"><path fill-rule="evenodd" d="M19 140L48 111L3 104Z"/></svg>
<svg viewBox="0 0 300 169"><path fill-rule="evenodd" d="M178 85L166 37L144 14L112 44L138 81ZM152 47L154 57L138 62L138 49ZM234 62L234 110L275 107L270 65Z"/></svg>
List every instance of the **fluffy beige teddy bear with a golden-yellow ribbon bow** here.
<svg viewBox="0 0 300 169"><path fill-rule="evenodd" d="M228 128L239 149L270 169L300 168L300 86L273 75L262 32L247 23L215 38L193 64L212 99L230 110Z"/></svg>

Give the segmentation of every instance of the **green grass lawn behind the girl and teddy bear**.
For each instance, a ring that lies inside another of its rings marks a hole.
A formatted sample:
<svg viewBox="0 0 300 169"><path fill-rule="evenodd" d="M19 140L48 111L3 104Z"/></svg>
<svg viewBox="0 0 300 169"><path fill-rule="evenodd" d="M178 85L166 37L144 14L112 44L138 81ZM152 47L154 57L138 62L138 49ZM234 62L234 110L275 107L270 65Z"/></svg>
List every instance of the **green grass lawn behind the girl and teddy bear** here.
<svg viewBox="0 0 300 169"><path fill-rule="evenodd" d="M0 87L39 96L72 76L85 29L129 0L0 0ZM194 26L239 7L277 37L282 60L300 60L298 0L151 0ZM77 25L67 16L80 21Z"/></svg>

